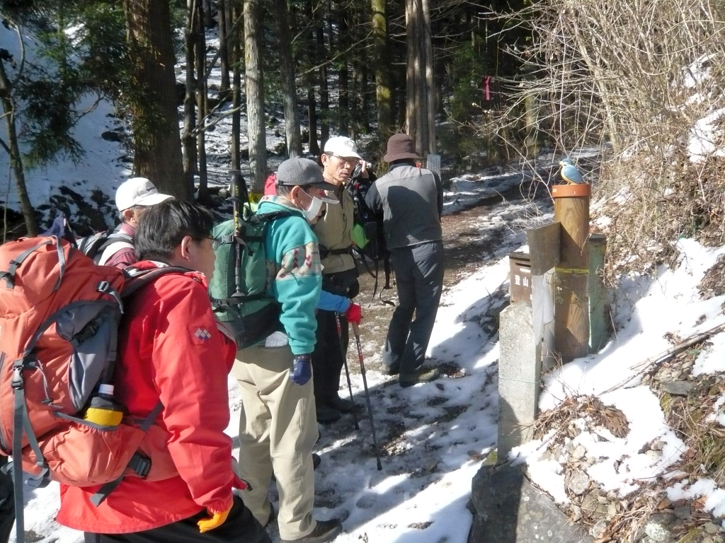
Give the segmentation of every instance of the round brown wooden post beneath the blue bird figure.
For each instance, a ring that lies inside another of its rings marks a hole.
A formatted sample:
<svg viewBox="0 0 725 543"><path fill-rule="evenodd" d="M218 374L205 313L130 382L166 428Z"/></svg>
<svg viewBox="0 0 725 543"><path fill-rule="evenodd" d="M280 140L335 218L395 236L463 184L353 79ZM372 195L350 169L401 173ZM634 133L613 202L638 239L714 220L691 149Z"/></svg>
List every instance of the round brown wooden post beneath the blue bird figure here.
<svg viewBox="0 0 725 543"><path fill-rule="evenodd" d="M589 185L555 185L554 220L561 223L555 273L555 347L563 363L589 353Z"/></svg>

